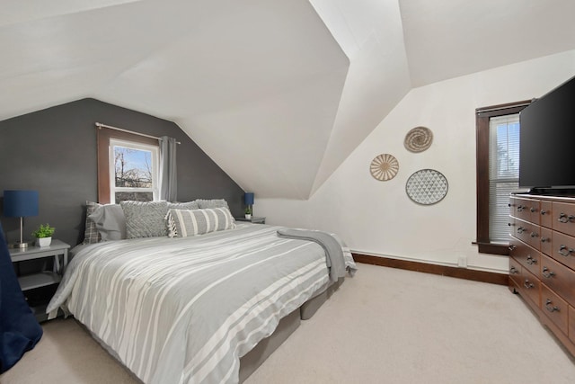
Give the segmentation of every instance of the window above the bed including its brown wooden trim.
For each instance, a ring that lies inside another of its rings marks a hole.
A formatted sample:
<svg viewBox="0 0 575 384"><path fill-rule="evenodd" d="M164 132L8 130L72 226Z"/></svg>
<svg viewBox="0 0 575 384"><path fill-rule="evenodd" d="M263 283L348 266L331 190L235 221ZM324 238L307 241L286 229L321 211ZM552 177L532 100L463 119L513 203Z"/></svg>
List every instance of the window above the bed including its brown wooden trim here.
<svg viewBox="0 0 575 384"><path fill-rule="evenodd" d="M98 201L154 201L159 198L159 145L116 129L97 129Z"/></svg>

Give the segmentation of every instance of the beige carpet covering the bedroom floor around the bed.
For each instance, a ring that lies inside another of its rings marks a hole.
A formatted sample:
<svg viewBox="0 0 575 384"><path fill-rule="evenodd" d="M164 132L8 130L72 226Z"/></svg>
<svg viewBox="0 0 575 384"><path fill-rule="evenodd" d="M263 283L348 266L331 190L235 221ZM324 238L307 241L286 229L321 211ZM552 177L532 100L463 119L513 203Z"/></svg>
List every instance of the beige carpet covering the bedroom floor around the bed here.
<svg viewBox="0 0 575 384"><path fill-rule="evenodd" d="M2 384L137 383L74 320ZM575 383L575 362L506 287L359 264L246 384Z"/></svg>

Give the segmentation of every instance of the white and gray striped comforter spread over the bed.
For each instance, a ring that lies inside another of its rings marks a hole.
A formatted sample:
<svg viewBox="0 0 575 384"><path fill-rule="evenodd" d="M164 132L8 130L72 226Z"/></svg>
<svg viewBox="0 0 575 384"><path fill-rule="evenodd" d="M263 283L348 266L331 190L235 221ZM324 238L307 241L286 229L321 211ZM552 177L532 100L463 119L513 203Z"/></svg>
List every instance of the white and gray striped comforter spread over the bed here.
<svg viewBox="0 0 575 384"><path fill-rule="evenodd" d="M239 358L329 281L322 246L278 228L86 246L47 311L74 315L146 383L237 382Z"/></svg>

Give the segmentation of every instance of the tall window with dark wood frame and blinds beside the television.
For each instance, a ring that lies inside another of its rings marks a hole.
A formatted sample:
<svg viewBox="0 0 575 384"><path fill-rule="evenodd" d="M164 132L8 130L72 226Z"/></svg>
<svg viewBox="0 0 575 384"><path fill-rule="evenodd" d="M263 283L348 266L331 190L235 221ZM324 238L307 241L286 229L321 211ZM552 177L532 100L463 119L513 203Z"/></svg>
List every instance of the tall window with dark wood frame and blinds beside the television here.
<svg viewBox="0 0 575 384"><path fill-rule="evenodd" d="M477 245L485 254L508 255L509 193L517 191L519 112L530 102L476 110Z"/></svg>

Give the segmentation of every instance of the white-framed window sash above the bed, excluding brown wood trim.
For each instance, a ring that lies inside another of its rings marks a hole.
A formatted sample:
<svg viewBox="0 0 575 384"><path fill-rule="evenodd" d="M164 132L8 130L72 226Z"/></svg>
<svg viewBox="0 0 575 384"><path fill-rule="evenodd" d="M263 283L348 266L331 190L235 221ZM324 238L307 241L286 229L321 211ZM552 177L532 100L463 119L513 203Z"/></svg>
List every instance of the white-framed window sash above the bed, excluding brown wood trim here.
<svg viewBox="0 0 575 384"><path fill-rule="evenodd" d="M111 138L110 202L155 201L158 146Z"/></svg>

